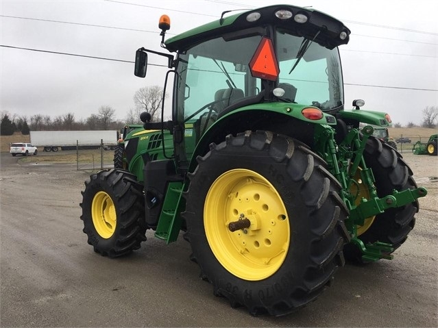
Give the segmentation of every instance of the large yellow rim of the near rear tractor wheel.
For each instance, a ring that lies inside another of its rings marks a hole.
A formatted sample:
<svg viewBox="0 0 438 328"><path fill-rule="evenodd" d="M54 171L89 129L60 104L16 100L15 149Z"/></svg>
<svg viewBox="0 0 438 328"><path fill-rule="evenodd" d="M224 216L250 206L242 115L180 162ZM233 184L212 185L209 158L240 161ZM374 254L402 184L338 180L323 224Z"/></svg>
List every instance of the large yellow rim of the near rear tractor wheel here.
<svg viewBox="0 0 438 328"><path fill-rule="evenodd" d="M247 218L250 227L230 231L228 225ZM286 207L267 179L254 171L223 173L208 190L204 203L208 244L228 272L258 281L282 266L290 243Z"/></svg>

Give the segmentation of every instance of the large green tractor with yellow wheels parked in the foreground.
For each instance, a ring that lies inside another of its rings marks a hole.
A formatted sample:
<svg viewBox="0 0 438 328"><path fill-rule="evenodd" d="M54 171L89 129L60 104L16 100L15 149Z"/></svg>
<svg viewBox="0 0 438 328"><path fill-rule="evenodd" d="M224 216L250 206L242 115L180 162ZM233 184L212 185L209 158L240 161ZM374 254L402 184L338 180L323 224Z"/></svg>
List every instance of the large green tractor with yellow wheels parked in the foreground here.
<svg viewBox="0 0 438 328"><path fill-rule="evenodd" d="M182 231L215 295L280 316L315 300L345 259L392 259L426 189L372 136L389 114L361 100L345 110L343 23L293 5L224 14L168 40L162 16L169 53L136 51L138 77L148 55L167 60L172 118L141 115L127 167L86 181L81 219L108 257L139 249L147 229L166 243Z"/></svg>

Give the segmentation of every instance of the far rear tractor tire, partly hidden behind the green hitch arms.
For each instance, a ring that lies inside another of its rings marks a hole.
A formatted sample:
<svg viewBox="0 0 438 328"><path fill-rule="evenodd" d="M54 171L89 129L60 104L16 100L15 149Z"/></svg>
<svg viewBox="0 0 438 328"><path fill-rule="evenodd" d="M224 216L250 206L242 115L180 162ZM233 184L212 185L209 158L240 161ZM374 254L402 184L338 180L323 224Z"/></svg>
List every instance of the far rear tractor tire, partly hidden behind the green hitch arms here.
<svg viewBox="0 0 438 328"><path fill-rule="evenodd" d="M365 163L372 168L376 179L378 197L391 194L393 190L417 188L413 173L402 155L377 138L369 137L364 153ZM418 212L418 201L393 207L384 213L365 219L365 225L358 227L358 238L366 245L374 242L387 242L394 251L400 247L415 225L414 214ZM345 245L345 258L363 263L361 252L353 244Z"/></svg>

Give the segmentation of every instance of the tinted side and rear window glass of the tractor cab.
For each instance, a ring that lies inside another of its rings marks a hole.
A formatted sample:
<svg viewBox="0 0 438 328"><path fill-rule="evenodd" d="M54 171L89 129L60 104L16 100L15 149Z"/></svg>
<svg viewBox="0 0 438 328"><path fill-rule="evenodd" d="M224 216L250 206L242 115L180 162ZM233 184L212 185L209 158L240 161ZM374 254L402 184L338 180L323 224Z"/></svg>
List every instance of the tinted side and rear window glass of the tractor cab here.
<svg viewBox="0 0 438 328"><path fill-rule="evenodd" d="M217 114L236 101L256 96L263 84L252 76L249 64L261 39L261 35L214 38L180 54L175 79L178 121L197 119L206 112ZM315 105L321 110L343 105L337 48L308 42L303 55L306 40L280 29L273 40L280 67L278 86L285 91L278 101ZM294 67L297 60L300 62Z"/></svg>

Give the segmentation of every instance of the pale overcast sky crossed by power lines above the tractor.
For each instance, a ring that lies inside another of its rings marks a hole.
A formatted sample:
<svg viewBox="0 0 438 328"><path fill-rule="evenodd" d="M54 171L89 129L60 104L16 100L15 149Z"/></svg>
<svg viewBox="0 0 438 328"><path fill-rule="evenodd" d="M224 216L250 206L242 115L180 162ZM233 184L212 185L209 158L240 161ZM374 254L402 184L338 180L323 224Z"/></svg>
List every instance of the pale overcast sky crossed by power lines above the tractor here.
<svg viewBox="0 0 438 328"><path fill-rule="evenodd" d="M161 14L171 18L170 37L224 10L276 3L313 6L352 31L340 47L345 108L364 99L363 109L387 111L405 125L421 123L422 110L438 106L436 0L0 0L0 45L134 61L140 47L160 50ZM166 60L151 55L149 63ZM78 120L109 105L123 120L134 108L134 92L162 86L167 68L149 66L145 79L133 71L127 62L0 47L0 110L27 118L73 112Z"/></svg>

